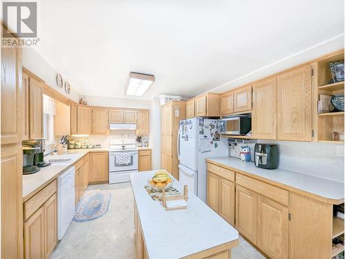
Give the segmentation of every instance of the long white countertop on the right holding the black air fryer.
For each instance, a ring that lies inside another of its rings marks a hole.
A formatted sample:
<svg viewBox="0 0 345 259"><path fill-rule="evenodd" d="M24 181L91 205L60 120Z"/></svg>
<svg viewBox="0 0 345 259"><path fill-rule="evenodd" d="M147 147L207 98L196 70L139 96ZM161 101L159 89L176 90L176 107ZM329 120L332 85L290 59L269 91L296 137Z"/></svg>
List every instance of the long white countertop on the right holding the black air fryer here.
<svg viewBox="0 0 345 259"><path fill-rule="evenodd" d="M323 198L342 200L344 199L344 183L326 178L319 178L317 176L308 175L306 173L298 173L286 169L260 169L255 166L253 162L242 162L237 158L232 157L215 157L208 158L209 161L230 166L233 169L244 171L261 178L278 182L286 186L291 186L295 189L306 191L319 195Z"/></svg>

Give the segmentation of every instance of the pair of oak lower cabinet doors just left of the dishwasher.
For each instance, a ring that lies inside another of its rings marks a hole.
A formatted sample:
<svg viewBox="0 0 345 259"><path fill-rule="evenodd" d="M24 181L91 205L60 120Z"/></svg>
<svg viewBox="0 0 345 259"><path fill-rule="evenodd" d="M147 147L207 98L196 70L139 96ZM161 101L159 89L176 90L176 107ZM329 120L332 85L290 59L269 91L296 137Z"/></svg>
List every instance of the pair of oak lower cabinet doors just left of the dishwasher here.
<svg viewBox="0 0 345 259"><path fill-rule="evenodd" d="M32 198L34 199L34 197ZM24 222L26 259L46 259L57 244L57 193Z"/></svg>

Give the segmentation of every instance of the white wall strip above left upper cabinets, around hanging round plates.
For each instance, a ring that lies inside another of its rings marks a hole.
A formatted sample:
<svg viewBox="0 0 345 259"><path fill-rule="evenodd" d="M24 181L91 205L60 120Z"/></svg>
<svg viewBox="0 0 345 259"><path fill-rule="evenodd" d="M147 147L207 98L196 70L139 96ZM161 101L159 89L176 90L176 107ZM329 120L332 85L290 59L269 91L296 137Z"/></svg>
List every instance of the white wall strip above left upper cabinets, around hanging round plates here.
<svg viewBox="0 0 345 259"><path fill-rule="evenodd" d="M77 90L72 87L71 82L70 94L66 93L64 88L59 88L59 86L57 86L57 74L59 73L59 70L51 66L48 61L43 59L43 57L41 57L41 55L36 51L32 48L22 48L22 59L24 68L28 69L34 75L37 75L37 77L42 79L54 90L57 90L61 95L64 95L75 102L79 102L79 93L77 93ZM61 73L61 75L63 77L63 73Z"/></svg>

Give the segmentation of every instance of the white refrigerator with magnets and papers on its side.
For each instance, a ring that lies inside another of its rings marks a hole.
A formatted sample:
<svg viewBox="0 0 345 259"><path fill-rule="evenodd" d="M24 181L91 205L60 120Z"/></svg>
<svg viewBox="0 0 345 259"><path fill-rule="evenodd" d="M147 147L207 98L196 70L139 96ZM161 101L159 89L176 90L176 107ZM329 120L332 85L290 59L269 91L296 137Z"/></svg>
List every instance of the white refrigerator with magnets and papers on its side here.
<svg viewBox="0 0 345 259"><path fill-rule="evenodd" d="M177 155L179 181L206 203L206 158L228 155L228 142L219 135L217 119L193 118L179 122Z"/></svg>

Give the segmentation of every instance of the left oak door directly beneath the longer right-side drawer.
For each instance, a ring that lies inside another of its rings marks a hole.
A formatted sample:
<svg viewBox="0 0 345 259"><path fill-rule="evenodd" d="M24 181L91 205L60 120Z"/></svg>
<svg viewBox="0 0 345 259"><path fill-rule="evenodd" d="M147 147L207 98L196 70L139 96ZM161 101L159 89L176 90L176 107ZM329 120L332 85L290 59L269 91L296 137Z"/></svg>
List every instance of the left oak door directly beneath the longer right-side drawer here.
<svg viewBox="0 0 345 259"><path fill-rule="evenodd" d="M236 227L251 242L257 242L257 193L237 185Z"/></svg>

